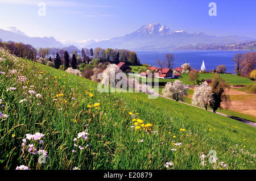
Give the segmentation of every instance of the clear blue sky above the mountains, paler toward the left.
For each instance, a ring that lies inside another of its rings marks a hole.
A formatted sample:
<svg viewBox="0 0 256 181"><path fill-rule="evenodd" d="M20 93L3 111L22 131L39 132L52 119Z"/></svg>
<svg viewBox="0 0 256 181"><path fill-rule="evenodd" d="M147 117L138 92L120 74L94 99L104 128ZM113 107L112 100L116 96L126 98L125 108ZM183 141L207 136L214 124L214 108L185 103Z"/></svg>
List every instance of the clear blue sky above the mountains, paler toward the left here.
<svg viewBox="0 0 256 181"><path fill-rule="evenodd" d="M46 3L46 16L38 15L38 2ZM217 4L217 16L208 15L210 2ZM255 0L0 0L0 28L80 41L123 36L158 22L171 31L256 38L255 7Z"/></svg>

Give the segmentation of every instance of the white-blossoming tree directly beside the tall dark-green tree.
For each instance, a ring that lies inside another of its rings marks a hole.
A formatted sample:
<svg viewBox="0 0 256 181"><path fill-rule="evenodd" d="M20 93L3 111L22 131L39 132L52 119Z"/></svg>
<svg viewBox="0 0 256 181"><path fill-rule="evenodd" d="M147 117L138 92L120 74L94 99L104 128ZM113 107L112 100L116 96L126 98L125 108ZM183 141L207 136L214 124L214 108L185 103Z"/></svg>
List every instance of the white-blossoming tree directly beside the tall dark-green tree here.
<svg viewBox="0 0 256 181"><path fill-rule="evenodd" d="M212 87L208 86L207 82L195 88L192 104L195 106L204 107L207 110L208 102L212 99Z"/></svg>

